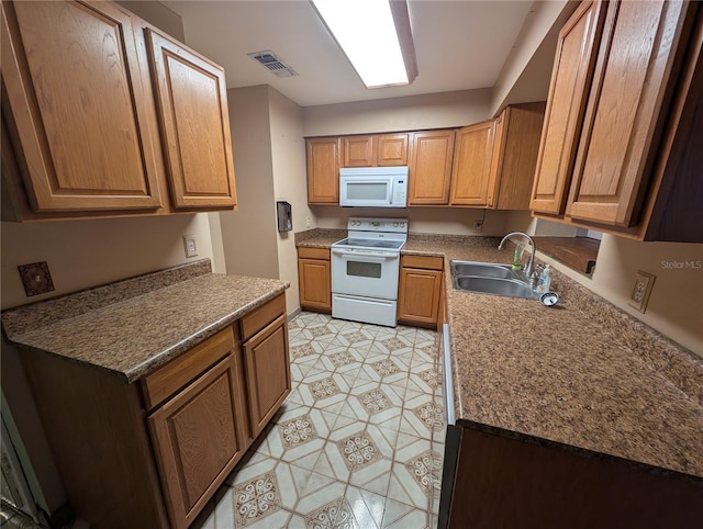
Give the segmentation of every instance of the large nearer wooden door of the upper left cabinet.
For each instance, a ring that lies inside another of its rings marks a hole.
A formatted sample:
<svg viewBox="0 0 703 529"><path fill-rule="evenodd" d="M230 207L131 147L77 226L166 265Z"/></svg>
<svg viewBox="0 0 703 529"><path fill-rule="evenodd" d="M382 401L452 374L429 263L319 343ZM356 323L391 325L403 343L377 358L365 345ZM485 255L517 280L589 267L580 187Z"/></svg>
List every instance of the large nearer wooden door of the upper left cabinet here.
<svg viewBox="0 0 703 529"><path fill-rule="evenodd" d="M2 80L34 211L160 206L148 80L127 12L2 2Z"/></svg>

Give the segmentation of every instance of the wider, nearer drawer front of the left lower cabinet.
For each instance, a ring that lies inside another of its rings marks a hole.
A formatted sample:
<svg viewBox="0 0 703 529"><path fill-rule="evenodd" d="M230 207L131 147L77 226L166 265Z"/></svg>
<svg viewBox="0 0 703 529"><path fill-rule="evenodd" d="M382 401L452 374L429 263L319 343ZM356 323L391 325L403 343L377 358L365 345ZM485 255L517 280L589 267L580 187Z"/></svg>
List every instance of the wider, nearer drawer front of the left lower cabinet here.
<svg viewBox="0 0 703 529"><path fill-rule="evenodd" d="M146 376L142 382L146 408L158 406L194 380L234 349L234 328L227 327Z"/></svg>

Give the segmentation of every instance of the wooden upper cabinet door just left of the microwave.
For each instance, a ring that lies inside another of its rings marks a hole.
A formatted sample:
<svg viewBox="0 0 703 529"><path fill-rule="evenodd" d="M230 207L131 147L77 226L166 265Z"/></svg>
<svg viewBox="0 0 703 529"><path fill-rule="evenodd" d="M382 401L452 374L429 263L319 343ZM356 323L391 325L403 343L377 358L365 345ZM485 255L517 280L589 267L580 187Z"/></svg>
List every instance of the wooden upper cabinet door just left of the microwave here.
<svg viewBox="0 0 703 529"><path fill-rule="evenodd" d="M338 137L309 138L308 147L308 203L339 203L339 150Z"/></svg>

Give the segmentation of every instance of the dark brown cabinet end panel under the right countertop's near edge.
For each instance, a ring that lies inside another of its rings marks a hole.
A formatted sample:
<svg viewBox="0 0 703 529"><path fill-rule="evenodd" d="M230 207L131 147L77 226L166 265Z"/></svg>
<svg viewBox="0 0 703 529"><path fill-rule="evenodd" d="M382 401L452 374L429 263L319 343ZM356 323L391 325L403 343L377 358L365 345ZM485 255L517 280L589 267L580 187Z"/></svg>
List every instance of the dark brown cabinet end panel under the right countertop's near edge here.
<svg viewBox="0 0 703 529"><path fill-rule="evenodd" d="M703 482L618 458L450 426L438 528L700 527Z"/></svg>

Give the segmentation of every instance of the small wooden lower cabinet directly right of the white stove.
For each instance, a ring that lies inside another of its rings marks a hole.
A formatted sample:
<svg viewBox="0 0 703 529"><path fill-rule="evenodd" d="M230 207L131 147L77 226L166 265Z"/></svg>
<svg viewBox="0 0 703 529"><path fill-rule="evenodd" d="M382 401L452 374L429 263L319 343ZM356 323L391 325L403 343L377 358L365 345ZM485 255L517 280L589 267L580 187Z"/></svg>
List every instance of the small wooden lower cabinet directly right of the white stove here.
<svg viewBox="0 0 703 529"><path fill-rule="evenodd" d="M437 327L444 285L442 257L402 256L399 278L398 320Z"/></svg>

